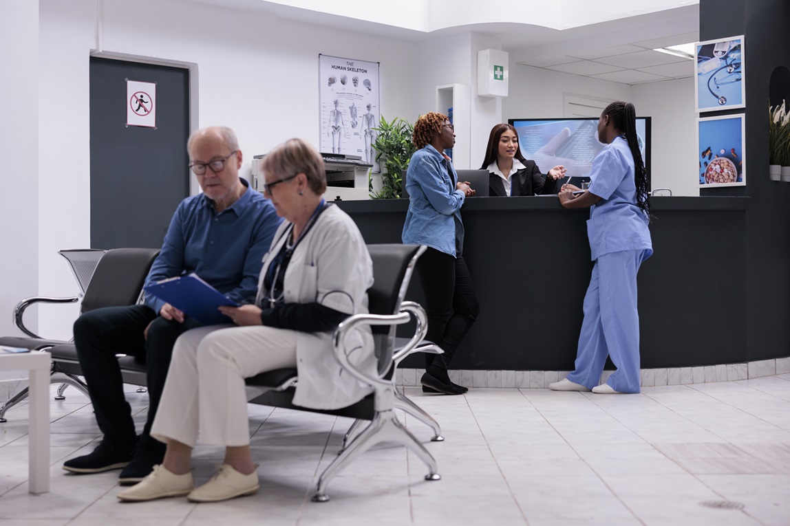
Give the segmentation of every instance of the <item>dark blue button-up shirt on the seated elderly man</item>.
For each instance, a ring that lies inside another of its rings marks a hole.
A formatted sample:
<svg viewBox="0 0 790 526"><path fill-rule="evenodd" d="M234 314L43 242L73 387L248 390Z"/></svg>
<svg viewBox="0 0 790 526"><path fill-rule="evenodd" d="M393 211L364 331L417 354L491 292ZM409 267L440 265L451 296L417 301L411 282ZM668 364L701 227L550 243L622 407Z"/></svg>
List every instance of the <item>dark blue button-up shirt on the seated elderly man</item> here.
<svg viewBox="0 0 790 526"><path fill-rule="evenodd" d="M246 191L220 213L204 193L181 201L146 285L195 272L235 302L254 302L263 257L282 219L268 199L242 182ZM145 295L145 304L159 313L165 302Z"/></svg>

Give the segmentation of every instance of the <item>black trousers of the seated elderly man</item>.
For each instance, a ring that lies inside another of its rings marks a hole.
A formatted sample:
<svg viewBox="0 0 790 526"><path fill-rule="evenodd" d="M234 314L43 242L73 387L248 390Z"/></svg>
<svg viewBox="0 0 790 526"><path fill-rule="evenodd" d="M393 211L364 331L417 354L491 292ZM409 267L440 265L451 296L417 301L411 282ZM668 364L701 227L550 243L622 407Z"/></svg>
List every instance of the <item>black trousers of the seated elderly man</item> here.
<svg viewBox="0 0 790 526"><path fill-rule="evenodd" d="M148 340L143 332L151 324ZM106 307L88 311L74 322L74 344L88 393L96 412L96 423L104 438L119 448L134 446L132 410L123 394L123 379L115 355L130 355L145 361L148 370L148 420L140 440L164 450L151 438L156 408L164 389L175 340L189 329L199 327L187 317L183 323L166 320L145 305Z"/></svg>

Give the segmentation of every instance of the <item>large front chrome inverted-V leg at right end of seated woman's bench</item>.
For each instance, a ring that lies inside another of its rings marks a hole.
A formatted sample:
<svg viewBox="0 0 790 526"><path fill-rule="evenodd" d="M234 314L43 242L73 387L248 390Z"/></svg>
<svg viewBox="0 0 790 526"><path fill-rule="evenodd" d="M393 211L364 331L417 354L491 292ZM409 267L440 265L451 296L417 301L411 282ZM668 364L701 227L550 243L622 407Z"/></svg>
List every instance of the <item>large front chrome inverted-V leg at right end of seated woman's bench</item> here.
<svg viewBox="0 0 790 526"><path fill-rule="evenodd" d="M384 441L395 441L412 449L419 456L420 460L428 467L428 474L425 475L426 480L439 480L442 477L438 474L438 464L431 453L425 449L425 446L420 444L413 434L409 433L403 424L395 416L392 410L381 411L367 426L365 430L357 438L355 438L348 448L340 453L335 460L324 470L320 477L318 477L318 484L315 487L312 501L313 502L327 502L329 495L326 494L326 487L329 481L332 480L341 469L344 469L350 464L357 456L365 453L376 445Z"/></svg>

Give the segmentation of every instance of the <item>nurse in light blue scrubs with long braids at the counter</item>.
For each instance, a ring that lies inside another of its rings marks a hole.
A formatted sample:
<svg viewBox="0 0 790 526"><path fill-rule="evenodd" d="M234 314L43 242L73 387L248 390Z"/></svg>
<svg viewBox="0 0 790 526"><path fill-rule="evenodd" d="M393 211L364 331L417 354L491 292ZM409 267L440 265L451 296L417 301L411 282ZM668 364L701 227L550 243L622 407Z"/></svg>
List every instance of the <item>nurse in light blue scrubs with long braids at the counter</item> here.
<svg viewBox="0 0 790 526"><path fill-rule="evenodd" d="M598 119L598 140L607 146L592 160L589 189L574 193L575 186L565 185L559 193L566 209L590 209L587 235L595 265L585 295L575 370L549 388L639 393L637 272L653 254L653 243L634 105L609 104ZM607 355L617 370L598 385Z"/></svg>

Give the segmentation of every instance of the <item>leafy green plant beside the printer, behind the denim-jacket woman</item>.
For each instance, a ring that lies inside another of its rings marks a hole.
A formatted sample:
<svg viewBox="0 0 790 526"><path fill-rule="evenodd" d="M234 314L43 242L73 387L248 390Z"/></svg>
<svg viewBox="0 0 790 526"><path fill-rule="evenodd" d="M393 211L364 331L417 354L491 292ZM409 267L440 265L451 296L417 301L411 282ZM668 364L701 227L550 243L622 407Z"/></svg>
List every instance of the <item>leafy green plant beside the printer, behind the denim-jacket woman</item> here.
<svg viewBox="0 0 790 526"><path fill-rule="evenodd" d="M388 122L382 116L378 122L373 148L376 150L376 162L382 171L382 190L373 191L371 181L371 198L397 199L401 197L401 173L408 167L412 153L416 148L412 141L414 126L402 118L394 118Z"/></svg>

